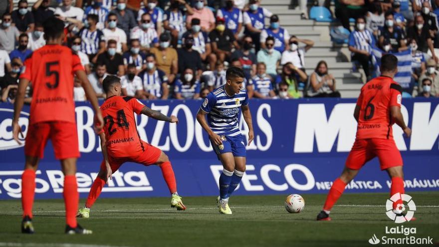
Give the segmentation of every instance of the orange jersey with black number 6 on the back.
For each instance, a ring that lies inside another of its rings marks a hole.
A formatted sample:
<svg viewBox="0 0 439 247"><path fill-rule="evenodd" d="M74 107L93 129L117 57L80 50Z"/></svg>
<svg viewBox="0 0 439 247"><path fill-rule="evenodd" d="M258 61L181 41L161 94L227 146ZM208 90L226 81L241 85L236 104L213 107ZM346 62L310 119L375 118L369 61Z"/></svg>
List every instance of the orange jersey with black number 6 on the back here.
<svg viewBox="0 0 439 247"><path fill-rule="evenodd" d="M401 107L401 92L402 87L387 76L372 79L361 88L357 139L393 139L390 107Z"/></svg>

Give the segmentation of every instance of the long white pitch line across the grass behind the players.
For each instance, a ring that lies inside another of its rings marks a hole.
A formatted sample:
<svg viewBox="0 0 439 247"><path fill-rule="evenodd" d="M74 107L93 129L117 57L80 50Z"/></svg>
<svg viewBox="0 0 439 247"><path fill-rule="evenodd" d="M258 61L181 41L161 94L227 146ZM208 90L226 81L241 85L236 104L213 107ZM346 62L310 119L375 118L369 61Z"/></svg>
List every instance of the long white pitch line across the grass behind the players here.
<svg viewBox="0 0 439 247"><path fill-rule="evenodd" d="M349 205L349 204L342 204L342 205L335 205L335 207L370 207L370 208L381 208L386 207L386 205ZM417 205L417 208L439 208L439 205ZM230 207L231 209L264 209L264 208L283 208L283 206L260 206L260 207ZM186 210L212 210L217 209L215 208L188 208ZM90 210L91 212L148 212L148 211L171 211L175 209L113 209L113 210ZM64 213L64 210L57 210L57 211L34 211L33 213ZM21 213L21 211L0 211L0 214L18 214Z"/></svg>

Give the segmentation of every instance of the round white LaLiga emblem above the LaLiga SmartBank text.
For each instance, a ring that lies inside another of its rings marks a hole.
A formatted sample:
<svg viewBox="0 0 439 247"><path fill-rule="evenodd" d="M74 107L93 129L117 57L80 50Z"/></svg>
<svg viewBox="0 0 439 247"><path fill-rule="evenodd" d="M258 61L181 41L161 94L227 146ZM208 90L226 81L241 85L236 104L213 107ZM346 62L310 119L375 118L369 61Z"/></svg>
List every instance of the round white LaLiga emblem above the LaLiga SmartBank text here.
<svg viewBox="0 0 439 247"><path fill-rule="evenodd" d="M406 206L404 204L398 204L397 208L395 210L393 209L393 203L400 199L403 202L407 202L407 206L409 207L405 216L396 214L401 214L406 211ZM415 215L415 211L415 202L412 200L412 197L407 194L401 195L400 193L396 193L390 198L390 200L387 200L386 202L386 215L395 223L404 223L406 221L412 220L413 216Z"/></svg>

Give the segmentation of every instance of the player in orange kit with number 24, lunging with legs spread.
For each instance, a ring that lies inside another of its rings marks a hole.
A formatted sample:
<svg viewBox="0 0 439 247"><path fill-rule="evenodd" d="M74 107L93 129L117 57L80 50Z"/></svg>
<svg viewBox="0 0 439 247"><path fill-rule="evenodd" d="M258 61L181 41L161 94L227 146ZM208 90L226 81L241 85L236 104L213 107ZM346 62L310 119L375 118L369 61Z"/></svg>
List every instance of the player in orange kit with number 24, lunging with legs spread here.
<svg viewBox="0 0 439 247"><path fill-rule="evenodd" d="M178 123L176 116L165 116L160 111L151 110L134 97L120 96L122 86L120 78L114 75L105 77L102 87L107 99L101 106L104 116L104 127L99 134L102 155L98 176L91 186L85 207L79 209L78 217L89 218L90 208L101 194L102 188L125 162L135 162L144 166L158 165L162 169L163 178L171 192L171 207L186 210L182 198L177 193L177 183L168 156L162 150L140 140L134 112L144 114L157 120Z"/></svg>

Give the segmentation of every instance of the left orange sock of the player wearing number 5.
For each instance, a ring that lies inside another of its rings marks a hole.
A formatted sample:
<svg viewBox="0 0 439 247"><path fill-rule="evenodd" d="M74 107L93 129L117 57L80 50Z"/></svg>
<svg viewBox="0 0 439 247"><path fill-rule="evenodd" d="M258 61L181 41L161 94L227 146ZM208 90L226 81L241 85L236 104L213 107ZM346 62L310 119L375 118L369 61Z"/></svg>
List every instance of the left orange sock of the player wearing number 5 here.
<svg viewBox="0 0 439 247"><path fill-rule="evenodd" d="M35 196L35 171L32 169L24 170L21 175L21 207L23 217L32 218L33 197Z"/></svg>

